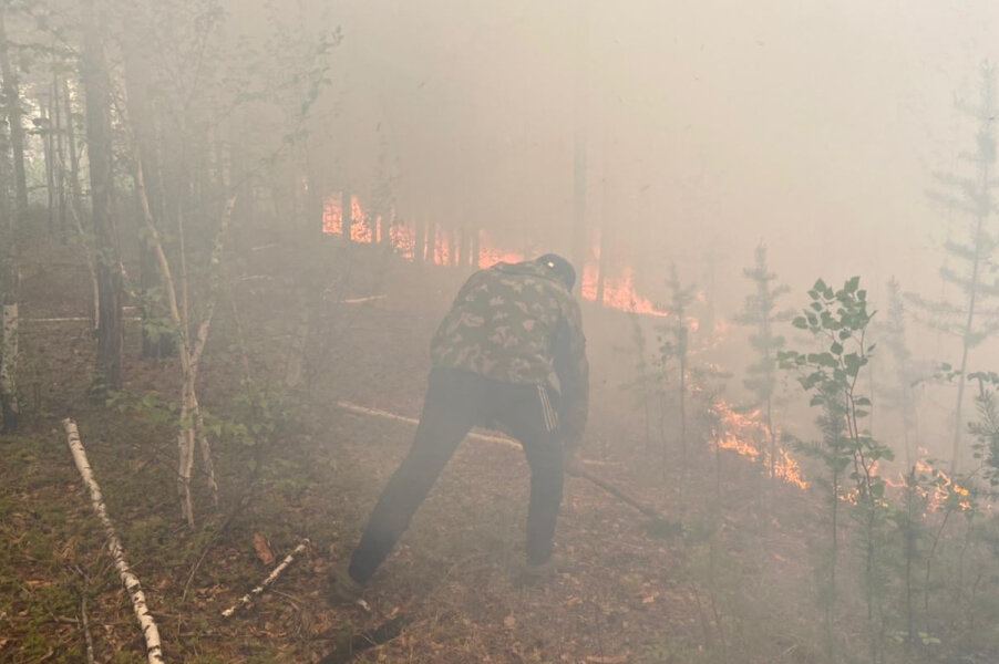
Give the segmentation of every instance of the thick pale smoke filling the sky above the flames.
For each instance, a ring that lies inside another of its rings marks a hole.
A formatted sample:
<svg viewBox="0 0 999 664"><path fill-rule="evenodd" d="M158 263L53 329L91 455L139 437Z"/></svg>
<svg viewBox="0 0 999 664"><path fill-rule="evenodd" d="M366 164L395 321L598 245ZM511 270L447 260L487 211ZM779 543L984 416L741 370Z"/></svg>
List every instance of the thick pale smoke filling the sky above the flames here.
<svg viewBox="0 0 999 664"><path fill-rule="evenodd" d="M568 250L581 122L588 225L653 289L672 260L703 280L710 242L734 282L759 241L795 287L938 289L948 214L926 193L968 167L955 98L999 60L989 0L350 0L329 20L359 191L383 141L402 217Z"/></svg>

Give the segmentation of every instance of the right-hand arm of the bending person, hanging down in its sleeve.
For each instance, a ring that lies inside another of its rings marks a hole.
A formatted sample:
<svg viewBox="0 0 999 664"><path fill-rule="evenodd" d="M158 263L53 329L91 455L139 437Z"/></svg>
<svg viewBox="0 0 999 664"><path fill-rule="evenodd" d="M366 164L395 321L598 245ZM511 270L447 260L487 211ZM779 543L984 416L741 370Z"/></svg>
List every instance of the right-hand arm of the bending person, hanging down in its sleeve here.
<svg viewBox="0 0 999 664"><path fill-rule="evenodd" d="M570 300L555 329L553 356L562 387L559 419L566 449L583 445L589 412L589 362L579 303Z"/></svg>

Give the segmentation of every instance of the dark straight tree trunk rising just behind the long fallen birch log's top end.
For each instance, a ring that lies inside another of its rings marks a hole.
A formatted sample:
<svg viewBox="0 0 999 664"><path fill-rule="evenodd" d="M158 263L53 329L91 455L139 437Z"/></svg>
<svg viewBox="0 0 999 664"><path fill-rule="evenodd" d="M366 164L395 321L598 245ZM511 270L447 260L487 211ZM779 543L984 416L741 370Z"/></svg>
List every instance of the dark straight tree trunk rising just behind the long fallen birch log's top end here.
<svg viewBox="0 0 999 664"><path fill-rule="evenodd" d="M96 250L100 317L94 393L121 388L122 270L112 215L111 83L104 61L101 28L93 0L84 3L83 85L86 89L86 148L90 157L91 204Z"/></svg>

